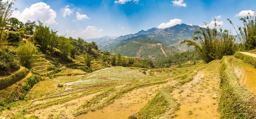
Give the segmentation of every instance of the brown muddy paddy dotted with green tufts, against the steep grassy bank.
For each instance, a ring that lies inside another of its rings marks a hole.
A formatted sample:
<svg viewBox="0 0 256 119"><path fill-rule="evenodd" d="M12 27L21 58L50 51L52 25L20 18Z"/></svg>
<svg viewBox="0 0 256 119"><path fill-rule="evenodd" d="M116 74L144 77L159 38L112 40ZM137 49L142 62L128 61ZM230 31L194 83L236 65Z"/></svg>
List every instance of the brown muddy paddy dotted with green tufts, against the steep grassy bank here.
<svg viewBox="0 0 256 119"><path fill-rule="evenodd" d="M199 71L191 82L173 91L180 110L175 119L218 119L220 61Z"/></svg>

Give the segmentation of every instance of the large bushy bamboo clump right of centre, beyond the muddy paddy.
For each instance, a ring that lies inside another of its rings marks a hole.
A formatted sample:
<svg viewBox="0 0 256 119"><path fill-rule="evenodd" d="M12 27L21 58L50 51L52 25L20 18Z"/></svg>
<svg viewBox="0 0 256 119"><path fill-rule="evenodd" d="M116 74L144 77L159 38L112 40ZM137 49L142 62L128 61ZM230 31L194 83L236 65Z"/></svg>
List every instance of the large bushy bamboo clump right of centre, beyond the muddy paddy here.
<svg viewBox="0 0 256 119"><path fill-rule="evenodd" d="M213 29L201 27L196 29L193 40L184 40L188 46L194 46L195 50L200 54L205 62L211 62L215 59L221 59L225 55L233 55L236 51L235 38L228 30L222 30L216 24ZM195 41L199 40L200 43Z"/></svg>

